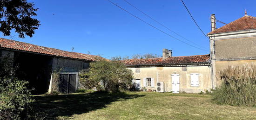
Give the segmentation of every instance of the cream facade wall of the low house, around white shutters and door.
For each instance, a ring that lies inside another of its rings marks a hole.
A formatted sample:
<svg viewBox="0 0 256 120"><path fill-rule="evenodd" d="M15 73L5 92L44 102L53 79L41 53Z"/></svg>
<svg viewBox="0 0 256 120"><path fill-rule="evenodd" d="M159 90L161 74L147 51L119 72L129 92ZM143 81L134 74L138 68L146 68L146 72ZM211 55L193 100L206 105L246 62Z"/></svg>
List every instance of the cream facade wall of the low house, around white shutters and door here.
<svg viewBox="0 0 256 120"><path fill-rule="evenodd" d="M172 91L172 74L179 74L180 92L199 93L201 91L210 90L212 88L210 67L208 66L188 66L187 70L182 67L143 67L140 72L135 72L136 68L129 68L134 73L135 79L141 79L141 87L143 87L143 78L154 78L154 87L147 89L156 89L156 82L164 82L166 92ZM190 74L199 74L199 87L190 86Z"/></svg>

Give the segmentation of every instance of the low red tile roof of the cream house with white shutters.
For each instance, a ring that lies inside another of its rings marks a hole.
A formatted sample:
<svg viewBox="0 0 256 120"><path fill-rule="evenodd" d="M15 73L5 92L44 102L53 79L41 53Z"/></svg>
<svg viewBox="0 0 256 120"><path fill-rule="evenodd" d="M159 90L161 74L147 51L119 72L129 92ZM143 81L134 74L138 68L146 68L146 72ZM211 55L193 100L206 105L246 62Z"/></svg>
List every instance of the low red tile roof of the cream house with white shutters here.
<svg viewBox="0 0 256 120"><path fill-rule="evenodd" d="M140 66L140 65L158 65L158 64L179 64L179 63L207 63L209 55L196 55L196 56L180 56L163 58L149 58L149 59L130 59L123 60L122 62L127 66Z"/></svg>

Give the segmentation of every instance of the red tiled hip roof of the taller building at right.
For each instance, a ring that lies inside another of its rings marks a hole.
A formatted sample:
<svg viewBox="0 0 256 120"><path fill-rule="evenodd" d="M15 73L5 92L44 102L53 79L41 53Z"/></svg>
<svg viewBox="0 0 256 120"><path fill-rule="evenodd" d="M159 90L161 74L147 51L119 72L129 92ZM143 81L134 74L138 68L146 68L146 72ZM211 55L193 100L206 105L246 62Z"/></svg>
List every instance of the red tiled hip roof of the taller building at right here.
<svg viewBox="0 0 256 120"><path fill-rule="evenodd" d="M250 29L256 29L256 17L247 15L247 16L243 16L240 19L236 19L235 21L227 25L224 25L212 32L209 32L208 35L222 33L222 32L250 30Z"/></svg>

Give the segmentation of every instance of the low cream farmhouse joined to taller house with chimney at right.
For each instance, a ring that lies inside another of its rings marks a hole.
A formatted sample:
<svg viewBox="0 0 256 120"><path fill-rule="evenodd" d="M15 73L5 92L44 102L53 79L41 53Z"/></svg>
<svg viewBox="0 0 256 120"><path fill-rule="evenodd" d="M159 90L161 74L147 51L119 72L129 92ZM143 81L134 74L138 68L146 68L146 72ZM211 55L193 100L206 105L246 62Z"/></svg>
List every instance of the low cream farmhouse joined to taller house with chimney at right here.
<svg viewBox="0 0 256 120"><path fill-rule="evenodd" d="M216 88L219 71L230 66L256 64L256 17L245 15L216 29L211 15L209 55L172 57L163 49L162 58L123 61L134 73L137 88L157 92L199 93Z"/></svg>

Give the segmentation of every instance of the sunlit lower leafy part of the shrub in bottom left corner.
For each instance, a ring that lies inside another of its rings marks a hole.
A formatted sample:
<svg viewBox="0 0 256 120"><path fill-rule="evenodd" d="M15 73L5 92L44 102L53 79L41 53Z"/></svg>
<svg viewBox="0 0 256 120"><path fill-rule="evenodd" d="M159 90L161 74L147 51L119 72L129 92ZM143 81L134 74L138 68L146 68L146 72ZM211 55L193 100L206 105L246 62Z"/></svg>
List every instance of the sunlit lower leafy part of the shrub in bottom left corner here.
<svg viewBox="0 0 256 120"><path fill-rule="evenodd" d="M27 90L26 81L10 82L7 87L1 87L0 94L0 119L13 120L30 118L29 112L32 111L30 103L34 100Z"/></svg>

